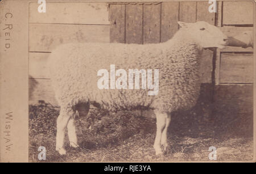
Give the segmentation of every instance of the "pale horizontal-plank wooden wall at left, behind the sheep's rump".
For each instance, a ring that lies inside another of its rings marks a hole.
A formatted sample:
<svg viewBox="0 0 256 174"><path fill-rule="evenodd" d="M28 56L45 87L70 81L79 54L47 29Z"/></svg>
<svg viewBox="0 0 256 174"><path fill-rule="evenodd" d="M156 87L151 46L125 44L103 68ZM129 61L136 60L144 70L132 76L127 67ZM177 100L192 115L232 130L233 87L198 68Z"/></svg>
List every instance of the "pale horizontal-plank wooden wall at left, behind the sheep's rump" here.
<svg viewBox="0 0 256 174"><path fill-rule="evenodd" d="M109 42L106 3L47 2L47 12L30 3L29 103L44 100L57 106L49 79L47 59L57 45L71 42Z"/></svg>

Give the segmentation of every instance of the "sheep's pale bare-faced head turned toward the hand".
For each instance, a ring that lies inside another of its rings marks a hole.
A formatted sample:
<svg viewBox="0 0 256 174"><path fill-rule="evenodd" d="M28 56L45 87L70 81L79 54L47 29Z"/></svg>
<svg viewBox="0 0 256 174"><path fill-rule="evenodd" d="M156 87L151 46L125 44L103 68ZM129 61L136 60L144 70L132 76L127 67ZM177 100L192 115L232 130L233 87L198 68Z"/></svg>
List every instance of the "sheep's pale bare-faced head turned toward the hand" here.
<svg viewBox="0 0 256 174"><path fill-rule="evenodd" d="M228 37L216 26L207 22L199 21L196 23L178 22L182 30L191 37L202 48L224 48Z"/></svg>

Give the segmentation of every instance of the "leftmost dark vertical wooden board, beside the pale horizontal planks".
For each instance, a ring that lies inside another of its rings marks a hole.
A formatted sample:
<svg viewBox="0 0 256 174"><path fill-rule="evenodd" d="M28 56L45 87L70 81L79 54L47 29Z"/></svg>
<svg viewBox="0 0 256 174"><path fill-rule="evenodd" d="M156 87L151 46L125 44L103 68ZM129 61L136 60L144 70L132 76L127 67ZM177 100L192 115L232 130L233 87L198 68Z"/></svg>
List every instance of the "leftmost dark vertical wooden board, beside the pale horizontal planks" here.
<svg viewBox="0 0 256 174"><path fill-rule="evenodd" d="M125 43L125 5L110 5L110 42Z"/></svg>

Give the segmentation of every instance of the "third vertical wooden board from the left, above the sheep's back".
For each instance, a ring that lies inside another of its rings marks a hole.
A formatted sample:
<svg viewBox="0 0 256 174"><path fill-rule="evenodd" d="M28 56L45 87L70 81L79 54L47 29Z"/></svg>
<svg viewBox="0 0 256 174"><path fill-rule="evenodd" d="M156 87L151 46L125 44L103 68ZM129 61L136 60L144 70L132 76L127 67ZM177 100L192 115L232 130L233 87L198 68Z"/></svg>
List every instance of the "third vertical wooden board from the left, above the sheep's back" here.
<svg viewBox="0 0 256 174"><path fill-rule="evenodd" d="M143 43L159 43L161 4L143 6Z"/></svg>

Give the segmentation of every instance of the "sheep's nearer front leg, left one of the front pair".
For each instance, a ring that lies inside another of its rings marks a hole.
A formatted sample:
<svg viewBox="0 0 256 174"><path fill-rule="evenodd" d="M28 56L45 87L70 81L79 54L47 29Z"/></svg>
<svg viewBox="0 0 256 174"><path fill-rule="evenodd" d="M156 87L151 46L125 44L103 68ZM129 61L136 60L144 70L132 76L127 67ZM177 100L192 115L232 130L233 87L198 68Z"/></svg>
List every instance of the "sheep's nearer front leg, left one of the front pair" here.
<svg viewBox="0 0 256 174"><path fill-rule="evenodd" d="M156 135L155 135L155 143L154 143L154 148L155 148L155 154L163 154L163 150L161 148L161 137L162 137L162 132L164 130L164 127L166 126L166 118L167 118L167 113L161 113L158 111L154 111L156 115Z"/></svg>

